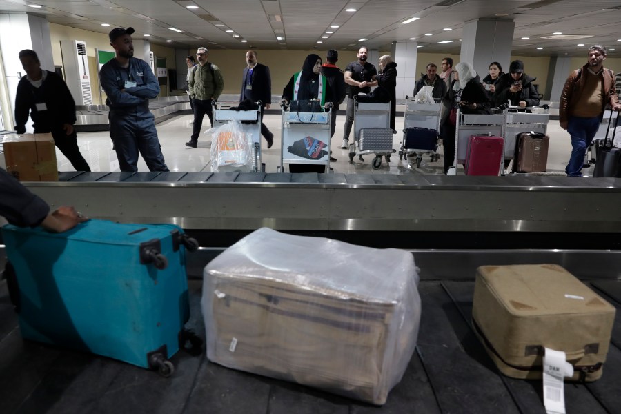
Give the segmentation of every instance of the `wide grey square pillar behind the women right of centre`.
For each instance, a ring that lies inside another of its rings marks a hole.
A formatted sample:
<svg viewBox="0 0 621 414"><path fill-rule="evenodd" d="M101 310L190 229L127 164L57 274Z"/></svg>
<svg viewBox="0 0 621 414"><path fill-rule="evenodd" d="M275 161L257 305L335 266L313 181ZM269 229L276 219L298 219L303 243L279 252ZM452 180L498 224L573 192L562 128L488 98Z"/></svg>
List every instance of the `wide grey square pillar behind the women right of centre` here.
<svg viewBox="0 0 621 414"><path fill-rule="evenodd" d="M488 75L489 64L496 61L509 70L513 44L513 20L478 19L464 25L460 61L474 66L483 79ZM453 67L459 62L454 62Z"/></svg>

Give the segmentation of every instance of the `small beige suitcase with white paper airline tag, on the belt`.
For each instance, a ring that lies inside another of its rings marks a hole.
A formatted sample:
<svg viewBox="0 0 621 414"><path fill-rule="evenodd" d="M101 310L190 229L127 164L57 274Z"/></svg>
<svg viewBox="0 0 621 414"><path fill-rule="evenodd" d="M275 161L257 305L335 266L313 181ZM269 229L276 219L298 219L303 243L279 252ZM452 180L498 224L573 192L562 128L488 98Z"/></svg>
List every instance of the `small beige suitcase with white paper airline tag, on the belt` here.
<svg viewBox="0 0 621 414"><path fill-rule="evenodd" d="M571 380L594 381L602 376L615 308L555 264L481 266L472 318L504 375L541 378L547 347L566 353Z"/></svg>

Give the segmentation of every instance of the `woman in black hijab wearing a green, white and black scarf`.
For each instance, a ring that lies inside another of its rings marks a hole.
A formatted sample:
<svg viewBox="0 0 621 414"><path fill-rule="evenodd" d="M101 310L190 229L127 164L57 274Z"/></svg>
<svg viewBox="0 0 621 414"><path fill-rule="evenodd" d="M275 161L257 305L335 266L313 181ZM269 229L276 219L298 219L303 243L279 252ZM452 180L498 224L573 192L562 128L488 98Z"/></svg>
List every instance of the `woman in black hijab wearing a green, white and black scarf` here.
<svg viewBox="0 0 621 414"><path fill-rule="evenodd" d="M282 90L281 103L317 99L321 106L333 101L328 79L322 75L322 58L308 55L300 72L294 73ZM329 148L328 148L329 150ZM325 166L316 164L289 164L289 172L326 172Z"/></svg>

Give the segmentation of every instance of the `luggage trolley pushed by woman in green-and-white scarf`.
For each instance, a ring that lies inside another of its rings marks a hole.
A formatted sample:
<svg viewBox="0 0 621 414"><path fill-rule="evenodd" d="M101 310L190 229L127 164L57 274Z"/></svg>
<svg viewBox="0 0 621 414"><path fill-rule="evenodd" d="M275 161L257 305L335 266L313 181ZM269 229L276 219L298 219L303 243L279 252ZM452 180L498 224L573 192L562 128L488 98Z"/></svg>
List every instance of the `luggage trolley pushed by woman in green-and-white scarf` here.
<svg viewBox="0 0 621 414"><path fill-rule="evenodd" d="M330 170L332 104L326 112L290 112L281 105L281 151L279 172L284 164L320 164Z"/></svg>

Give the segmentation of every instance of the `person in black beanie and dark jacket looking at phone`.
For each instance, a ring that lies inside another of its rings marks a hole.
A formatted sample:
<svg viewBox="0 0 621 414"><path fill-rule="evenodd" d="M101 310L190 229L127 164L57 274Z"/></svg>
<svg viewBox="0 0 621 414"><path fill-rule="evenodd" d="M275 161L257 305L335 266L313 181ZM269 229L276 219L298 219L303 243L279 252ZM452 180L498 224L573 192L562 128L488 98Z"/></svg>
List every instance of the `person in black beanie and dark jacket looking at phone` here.
<svg viewBox="0 0 621 414"><path fill-rule="evenodd" d="M537 78L531 78L524 73L524 63L520 60L511 62L509 73L506 73L496 86L496 92L492 95L493 106L511 102L513 106L538 106L539 94L533 82Z"/></svg>

